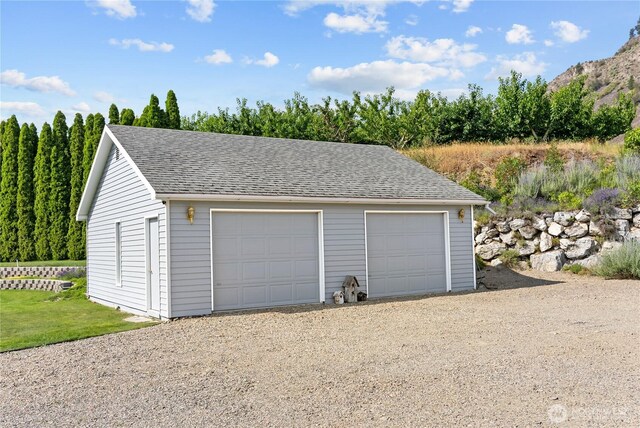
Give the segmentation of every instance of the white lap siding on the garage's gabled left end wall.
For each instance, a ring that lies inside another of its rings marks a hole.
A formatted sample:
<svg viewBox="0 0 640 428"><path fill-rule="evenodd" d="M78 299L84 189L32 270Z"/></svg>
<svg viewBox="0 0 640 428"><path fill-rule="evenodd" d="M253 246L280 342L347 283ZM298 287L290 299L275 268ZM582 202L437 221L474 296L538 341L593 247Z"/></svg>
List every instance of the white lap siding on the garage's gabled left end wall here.
<svg viewBox="0 0 640 428"><path fill-rule="evenodd" d="M145 217L157 216L160 250L160 315L168 317L166 215L131 164L111 147L87 219L87 293L96 301L147 312ZM122 230L122 285L116 285L115 223Z"/></svg>

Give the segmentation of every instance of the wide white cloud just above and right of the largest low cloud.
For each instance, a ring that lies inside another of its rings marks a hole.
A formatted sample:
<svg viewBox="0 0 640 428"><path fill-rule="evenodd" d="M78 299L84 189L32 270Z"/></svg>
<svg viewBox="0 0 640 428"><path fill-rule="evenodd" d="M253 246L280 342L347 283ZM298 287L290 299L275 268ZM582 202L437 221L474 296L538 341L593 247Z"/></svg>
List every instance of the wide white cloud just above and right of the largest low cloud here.
<svg viewBox="0 0 640 428"><path fill-rule="evenodd" d="M416 62L437 62L439 65L473 67L487 60L475 52L476 45L458 44L453 39L433 42L421 37L397 36L386 44L387 54L393 58Z"/></svg>

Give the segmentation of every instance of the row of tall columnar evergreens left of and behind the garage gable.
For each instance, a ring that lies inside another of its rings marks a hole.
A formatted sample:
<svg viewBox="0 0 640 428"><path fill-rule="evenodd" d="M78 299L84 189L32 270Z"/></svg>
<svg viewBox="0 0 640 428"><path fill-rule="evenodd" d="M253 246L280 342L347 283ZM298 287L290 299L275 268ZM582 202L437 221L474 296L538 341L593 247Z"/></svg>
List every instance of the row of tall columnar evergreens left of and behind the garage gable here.
<svg viewBox="0 0 640 428"><path fill-rule="evenodd" d="M169 91L163 110L152 95L140 117L112 104L109 123L179 128L178 101ZM0 123L0 259L85 257L85 227L75 215L104 126L100 113L78 113L68 127L60 111L39 134L16 116Z"/></svg>

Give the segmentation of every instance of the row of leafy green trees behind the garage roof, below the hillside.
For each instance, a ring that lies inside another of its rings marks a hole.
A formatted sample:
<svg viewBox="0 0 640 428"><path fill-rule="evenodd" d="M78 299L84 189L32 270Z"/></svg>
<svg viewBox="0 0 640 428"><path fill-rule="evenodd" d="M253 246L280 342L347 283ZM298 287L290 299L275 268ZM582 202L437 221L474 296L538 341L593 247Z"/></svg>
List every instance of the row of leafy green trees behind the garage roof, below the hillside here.
<svg viewBox="0 0 640 428"><path fill-rule="evenodd" d="M296 93L283 109L237 100L235 113L198 112L182 118L182 129L266 137L384 144L396 149L454 141L535 142L553 139L598 138L605 141L629 129L635 115L631 94L622 94L613 106L594 111L594 95L585 77L550 92L538 77L523 79L512 72L500 79L496 96L470 85L468 93L450 101L441 94L420 91L413 101L383 94L351 100L324 98L310 104Z"/></svg>

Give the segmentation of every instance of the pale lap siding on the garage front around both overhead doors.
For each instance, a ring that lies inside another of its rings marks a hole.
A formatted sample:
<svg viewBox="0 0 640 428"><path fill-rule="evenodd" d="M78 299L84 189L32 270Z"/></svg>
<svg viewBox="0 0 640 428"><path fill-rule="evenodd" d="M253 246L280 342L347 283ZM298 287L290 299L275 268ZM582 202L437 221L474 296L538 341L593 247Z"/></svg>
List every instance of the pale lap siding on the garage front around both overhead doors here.
<svg viewBox="0 0 640 428"><path fill-rule="evenodd" d="M346 275L355 275L366 287L364 212L375 210L448 211L451 248L451 289L471 290L473 245L471 207L425 205L301 204L171 201L171 316L202 315L211 312L211 209L322 210L324 234L325 301L340 290ZM193 224L187 208L195 208ZM458 211L465 209L465 219Z"/></svg>

